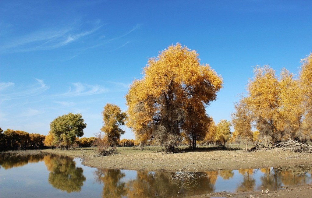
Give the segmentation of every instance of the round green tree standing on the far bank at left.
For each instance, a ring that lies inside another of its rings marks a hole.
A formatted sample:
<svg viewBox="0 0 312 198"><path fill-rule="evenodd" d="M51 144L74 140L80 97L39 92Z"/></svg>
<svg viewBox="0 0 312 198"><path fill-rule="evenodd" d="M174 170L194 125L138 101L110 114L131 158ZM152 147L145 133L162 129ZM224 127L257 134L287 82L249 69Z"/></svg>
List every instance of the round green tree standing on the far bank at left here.
<svg viewBox="0 0 312 198"><path fill-rule="evenodd" d="M76 137L83 135L86 126L80 113L68 113L55 118L50 123L50 132L53 134L51 145L61 145L68 150L75 143Z"/></svg>

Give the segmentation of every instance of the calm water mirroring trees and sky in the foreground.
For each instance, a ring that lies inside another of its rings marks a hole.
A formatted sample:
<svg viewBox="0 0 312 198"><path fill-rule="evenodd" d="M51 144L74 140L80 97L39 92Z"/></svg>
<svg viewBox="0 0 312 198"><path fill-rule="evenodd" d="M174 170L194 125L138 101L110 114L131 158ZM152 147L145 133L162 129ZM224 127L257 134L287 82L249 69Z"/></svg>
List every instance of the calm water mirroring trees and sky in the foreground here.
<svg viewBox="0 0 312 198"><path fill-rule="evenodd" d="M79 158L0 155L0 197L184 197L220 191L276 190L311 183L312 166L200 172L190 185L168 172L96 169Z"/></svg>

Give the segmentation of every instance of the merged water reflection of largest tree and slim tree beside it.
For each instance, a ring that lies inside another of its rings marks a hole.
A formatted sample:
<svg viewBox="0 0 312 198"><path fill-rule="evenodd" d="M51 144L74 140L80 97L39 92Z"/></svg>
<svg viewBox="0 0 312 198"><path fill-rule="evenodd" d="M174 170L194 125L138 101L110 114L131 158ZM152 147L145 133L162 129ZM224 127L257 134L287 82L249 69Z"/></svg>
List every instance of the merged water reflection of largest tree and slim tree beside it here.
<svg viewBox="0 0 312 198"><path fill-rule="evenodd" d="M204 173L199 173L204 174ZM213 184L210 177L201 177L195 186L183 186L180 181L172 182L169 172L142 172L137 171L136 178L124 180L125 174L120 170L98 169L94 171L95 180L103 183L102 197L168 197L193 195L196 191L210 193Z"/></svg>

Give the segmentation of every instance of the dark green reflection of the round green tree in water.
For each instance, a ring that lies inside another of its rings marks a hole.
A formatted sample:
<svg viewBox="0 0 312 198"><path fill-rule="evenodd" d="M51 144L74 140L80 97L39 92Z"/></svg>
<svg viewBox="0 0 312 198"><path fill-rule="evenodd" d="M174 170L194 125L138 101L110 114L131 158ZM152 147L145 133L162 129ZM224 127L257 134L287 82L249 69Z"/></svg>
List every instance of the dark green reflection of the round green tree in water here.
<svg viewBox="0 0 312 198"><path fill-rule="evenodd" d="M83 170L76 167L72 157L46 155L44 163L50 171L48 182L61 191L79 192L85 181Z"/></svg>

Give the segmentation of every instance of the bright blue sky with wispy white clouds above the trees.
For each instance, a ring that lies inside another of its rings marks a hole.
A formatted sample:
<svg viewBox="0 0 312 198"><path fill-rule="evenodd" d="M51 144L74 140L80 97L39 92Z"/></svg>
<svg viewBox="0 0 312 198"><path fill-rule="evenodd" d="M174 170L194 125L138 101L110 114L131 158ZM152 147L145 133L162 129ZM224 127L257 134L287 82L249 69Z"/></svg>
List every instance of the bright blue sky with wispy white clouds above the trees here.
<svg viewBox="0 0 312 198"><path fill-rule="evenodd" d="M222 75L207 107L231 119L256 65L297 73L312 51L312 1L0 0L0 127L46 135L81 113L84 137L103 125L106 103L125 94L150 57L177 42ZM121 138L134 138L130 129Z"/></svg>

